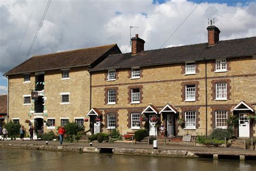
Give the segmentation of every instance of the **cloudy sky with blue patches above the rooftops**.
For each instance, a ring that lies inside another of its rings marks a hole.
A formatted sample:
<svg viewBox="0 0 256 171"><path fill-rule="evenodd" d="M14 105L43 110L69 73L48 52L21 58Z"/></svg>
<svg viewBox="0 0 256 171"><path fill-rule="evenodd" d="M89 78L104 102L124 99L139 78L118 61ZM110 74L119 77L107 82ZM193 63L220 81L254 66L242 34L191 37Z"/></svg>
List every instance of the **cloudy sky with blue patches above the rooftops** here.
<svg viewBox="0 0 256 171"><path fill-rule="evenodd" d="M131 34L139 34L146 41L145 50L207 42L208 18L214 18L220 40L256 36L256 0L200 2L52 0L29 58L107 44L130 52L130 26L139 27L132 28ZM0 95L7 94L8 89L2 75L24 62L47 3L0 0Z"/></svg>

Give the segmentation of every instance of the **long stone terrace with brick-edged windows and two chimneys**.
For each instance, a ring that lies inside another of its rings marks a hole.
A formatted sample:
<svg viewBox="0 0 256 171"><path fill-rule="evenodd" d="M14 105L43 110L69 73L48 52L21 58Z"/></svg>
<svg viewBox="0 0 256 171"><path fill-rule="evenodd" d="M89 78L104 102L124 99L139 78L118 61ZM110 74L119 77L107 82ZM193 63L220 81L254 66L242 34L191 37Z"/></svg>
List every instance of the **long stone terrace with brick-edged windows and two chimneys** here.
<svg viewBox="0 0 256 171"><path fill-rule="evenodd" d="M256 37L219 41L218 27L207 31L206 43L151 51L136 34L131 53L109 55L91 69L87 116L93 123L99 117L102 131L146 127L151 136L156 118L166 136L183 136L226 129L227 119L236 116L235 135L255 137ZM97 123L91 128L100 131Z"/></svg>

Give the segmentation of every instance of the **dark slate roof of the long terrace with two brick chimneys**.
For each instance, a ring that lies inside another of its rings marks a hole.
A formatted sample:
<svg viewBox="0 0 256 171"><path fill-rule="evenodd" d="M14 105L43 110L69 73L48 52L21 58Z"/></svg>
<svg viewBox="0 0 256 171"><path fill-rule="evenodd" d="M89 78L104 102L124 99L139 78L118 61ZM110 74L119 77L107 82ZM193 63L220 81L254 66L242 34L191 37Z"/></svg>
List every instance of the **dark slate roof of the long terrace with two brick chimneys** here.
<svg viewBox="0 0 256 171"><path fill-rule="evenodd" d="M199 61L204 59L230 58L256 54L256 37L218 41L214 46L207 43L109 55L91 71L153 66L165 63Z"/></svg>

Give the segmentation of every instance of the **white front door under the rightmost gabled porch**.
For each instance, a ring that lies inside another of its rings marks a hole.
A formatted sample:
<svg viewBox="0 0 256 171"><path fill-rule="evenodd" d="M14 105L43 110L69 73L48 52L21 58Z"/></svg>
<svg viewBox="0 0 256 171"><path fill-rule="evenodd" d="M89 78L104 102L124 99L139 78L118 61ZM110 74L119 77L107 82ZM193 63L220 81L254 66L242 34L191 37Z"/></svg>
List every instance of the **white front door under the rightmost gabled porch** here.
<svg viewBox="0 0 256 171"><path fill-rule="evenodd" d="M248 113L239 113L239 137L250 137Z"/></svg>

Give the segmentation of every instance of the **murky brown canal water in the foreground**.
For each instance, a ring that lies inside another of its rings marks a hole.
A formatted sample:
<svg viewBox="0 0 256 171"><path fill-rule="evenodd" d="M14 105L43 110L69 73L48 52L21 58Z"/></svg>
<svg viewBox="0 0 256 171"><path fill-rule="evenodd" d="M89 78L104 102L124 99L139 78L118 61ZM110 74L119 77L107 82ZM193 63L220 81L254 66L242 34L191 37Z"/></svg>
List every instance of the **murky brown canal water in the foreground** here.
<svg viewBox="0 0 256 171"><path fill-rule="evenodd" d="M256 161L0 148L0 170L256 170Z"/></svg>

